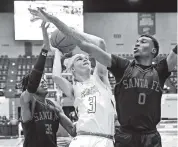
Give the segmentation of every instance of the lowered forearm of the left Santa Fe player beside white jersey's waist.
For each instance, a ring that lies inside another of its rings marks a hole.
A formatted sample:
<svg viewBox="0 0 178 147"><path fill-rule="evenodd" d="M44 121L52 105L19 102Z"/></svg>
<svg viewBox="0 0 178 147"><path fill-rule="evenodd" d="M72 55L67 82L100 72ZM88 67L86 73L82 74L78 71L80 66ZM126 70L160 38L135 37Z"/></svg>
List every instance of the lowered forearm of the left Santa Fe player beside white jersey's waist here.
<svg viewBox="0 0 178 147"><path fill-rule="evenodd" d="M64 127L64 129L66 129L66 131L72 137L75 137L77 135L77 133L76 133L76 127L72 123L72 121L63 112L60 112L59 118L60 118L59 119L60 120L60 124Z"/></svg>

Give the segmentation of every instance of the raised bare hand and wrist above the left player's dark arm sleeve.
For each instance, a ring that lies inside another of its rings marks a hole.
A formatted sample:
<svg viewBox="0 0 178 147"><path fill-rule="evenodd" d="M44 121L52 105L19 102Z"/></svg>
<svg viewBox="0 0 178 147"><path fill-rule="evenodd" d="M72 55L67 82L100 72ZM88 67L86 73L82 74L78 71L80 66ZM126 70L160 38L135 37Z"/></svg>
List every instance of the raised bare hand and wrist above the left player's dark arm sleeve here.
<svg viewBox="0 0 178 147"><path fill-rule="evenodd" d="M48 37L48 33L47 33L47 29L49 27L50 24L48 24L46 26L46 22L43 21L41 24L41 28L42 28L42 33L43 33L43 48L46 50L50 50L50 42L49 42L49 37Z"/></svg>

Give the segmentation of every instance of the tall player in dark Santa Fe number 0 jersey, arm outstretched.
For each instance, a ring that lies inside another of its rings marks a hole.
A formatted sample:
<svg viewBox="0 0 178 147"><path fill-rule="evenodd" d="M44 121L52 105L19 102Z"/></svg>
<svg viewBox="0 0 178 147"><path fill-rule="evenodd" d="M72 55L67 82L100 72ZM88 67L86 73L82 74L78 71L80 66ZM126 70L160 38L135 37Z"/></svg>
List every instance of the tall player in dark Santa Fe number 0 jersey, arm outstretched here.
<svg viewBox="0 0 178 147"><path fill-rule="evenodd" d="M109 54L88 42L80 32L71 29L59 19L41 9L33 12L43 20L54 23L65 35L72 36L81 50L107 66L116 79L115 100L120 127L115 146L161 147L161 137L156 125L161 118L162 89L177 63L177 46L156 65L153 59L159 53L158 41L142 35L136 41L134 60ZM104 42L103 42L104 43Z"/></svg>

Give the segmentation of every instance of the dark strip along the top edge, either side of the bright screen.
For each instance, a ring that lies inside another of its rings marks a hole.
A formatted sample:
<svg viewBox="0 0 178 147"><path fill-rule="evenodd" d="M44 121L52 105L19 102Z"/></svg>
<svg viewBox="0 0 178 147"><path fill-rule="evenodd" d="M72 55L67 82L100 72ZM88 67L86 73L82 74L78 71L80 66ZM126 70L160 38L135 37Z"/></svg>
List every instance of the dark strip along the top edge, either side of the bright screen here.
<svg viewBox="0 0 178 147"><path fill-rule="evenodd" d="M177 12L177 0L83 0L84 12ZM129 1L139 1L130 3ZM14 0L0 0L0 12L14 12Z"/></svg>

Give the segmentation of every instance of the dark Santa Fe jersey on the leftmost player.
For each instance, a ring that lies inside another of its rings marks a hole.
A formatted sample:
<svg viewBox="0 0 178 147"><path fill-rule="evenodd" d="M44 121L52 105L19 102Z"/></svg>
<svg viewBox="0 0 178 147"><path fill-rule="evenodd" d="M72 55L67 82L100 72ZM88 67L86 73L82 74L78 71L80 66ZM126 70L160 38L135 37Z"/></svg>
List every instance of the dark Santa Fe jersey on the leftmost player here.
<svg viewBox="0 0 178 147"><path fill-rule="evenodd" d="M57 147L59 115L54 109L36 101L33 119L22 124L24 147Z"/></svg>

